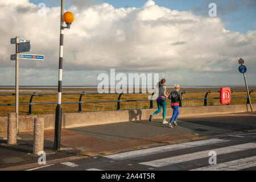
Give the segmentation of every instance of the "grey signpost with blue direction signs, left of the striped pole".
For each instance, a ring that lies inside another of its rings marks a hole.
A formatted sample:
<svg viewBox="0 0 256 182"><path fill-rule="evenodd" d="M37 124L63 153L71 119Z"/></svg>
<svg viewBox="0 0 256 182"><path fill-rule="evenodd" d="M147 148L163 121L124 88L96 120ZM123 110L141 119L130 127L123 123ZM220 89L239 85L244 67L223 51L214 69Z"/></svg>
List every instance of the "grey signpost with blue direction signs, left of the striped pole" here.
<svg viewBox="0 0 256 182"><path fill-rule="evenodd" d="M15 60L15 113L17 114L17 133L19 122L19 59L44 60L44 55L20 54L20 52L31 51L31 40L11 38L11 44L15 44L15 54L10 56L11 60Z"/></svg>

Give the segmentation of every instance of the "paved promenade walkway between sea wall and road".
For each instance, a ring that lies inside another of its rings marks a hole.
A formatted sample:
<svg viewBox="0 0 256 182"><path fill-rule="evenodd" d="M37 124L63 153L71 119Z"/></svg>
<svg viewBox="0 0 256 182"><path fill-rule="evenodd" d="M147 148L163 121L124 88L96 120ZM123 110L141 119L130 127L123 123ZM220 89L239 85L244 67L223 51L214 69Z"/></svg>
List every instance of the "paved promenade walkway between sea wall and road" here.
<svg viewBox="0 0 256 182"><path fill-rule="evenodd" d="M256 129L256 113L179 118L179 126L170 129L157 119L108 125L77 127L61 132L61 151L53 150L54 130L44 133L47 161L70 156L106 155L119 151L161 146L164 144L207 138L212 135L246 132ZM18 144L6 144L0 134L0 168L38 162L32 153L33 133L18 134Z"/></svg>

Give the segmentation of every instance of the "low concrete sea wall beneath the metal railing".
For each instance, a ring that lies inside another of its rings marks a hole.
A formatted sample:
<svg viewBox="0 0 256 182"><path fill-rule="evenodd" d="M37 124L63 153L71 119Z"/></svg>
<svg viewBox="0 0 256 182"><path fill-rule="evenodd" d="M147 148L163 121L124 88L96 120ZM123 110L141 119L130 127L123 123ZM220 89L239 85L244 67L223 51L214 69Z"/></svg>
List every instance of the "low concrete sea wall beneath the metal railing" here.
<svg viewBox="0 0 256 182"><path fill-rule="evenodd" d="M147 120L150 114L154 113L155 110L156 109L135 109L85 113L64 113L62 118L62 127L72 128L79 126L104 125L107 123ZM253 104L253 110L256 110L256 104ZM167 108L167 118L171 117L172 111L173 110L171 108ZM250 111L249 105L180 107L179 117L240 113L246 111ZM44 118L44 129L54 129L55 114L19 115L19 132L32 131L34 129L34 118L37 117ZM162 114L157 114L154 118L162 118ZM7 132L7 116L0 117L0 129L2 133Z"/></svg>

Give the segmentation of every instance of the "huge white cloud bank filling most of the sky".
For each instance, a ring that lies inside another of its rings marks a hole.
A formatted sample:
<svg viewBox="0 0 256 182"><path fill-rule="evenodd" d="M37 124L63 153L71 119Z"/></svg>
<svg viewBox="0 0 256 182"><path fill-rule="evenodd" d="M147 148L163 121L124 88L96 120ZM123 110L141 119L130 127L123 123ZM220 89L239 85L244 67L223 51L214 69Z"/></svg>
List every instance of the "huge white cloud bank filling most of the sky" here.
<svg viewBox="0 0 256 182"><path fill-rule="evenodd" d="M57 84L60 7L47 7L46 16L39 16L38 10L38 5L28 0L0 0L0 84L6 84L2 78L9 77L14 68L10 55L15 48L10 38L15 36L32 39L31 53L46 56L45 61L22 60L24 79L44 78L42 84L47 80ZM250 66L252 77L256 76L256 31L242 34L225 30L220 18L170 10L154 1L126 9L115 9L108 3L89 7L74 4L68 11L75 14L75 22L64 34L64 74L69 73L72 80L67 84L76 84L75 77L83 71L91 72L90 78L96 81L96 73L110 68L159 72L167 78L182 70L177 73L180 81L189 78L188 72L194 77L231 75L237 73L240 57Z"/></svg>

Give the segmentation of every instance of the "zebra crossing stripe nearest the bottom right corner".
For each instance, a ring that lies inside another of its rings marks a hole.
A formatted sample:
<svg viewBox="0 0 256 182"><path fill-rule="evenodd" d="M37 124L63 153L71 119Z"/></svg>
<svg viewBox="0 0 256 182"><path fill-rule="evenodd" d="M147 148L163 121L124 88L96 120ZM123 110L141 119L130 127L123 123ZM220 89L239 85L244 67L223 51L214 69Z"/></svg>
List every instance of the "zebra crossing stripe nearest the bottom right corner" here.
<svg viewBox="0 0 256 182"><path fill-rule="evenodd" d="M191 171L238 171L256 166L256 156L232 160L230 162L220 163L212 166L192 169Z"/></svg>

